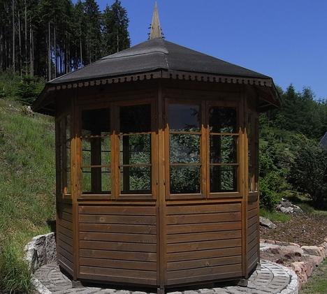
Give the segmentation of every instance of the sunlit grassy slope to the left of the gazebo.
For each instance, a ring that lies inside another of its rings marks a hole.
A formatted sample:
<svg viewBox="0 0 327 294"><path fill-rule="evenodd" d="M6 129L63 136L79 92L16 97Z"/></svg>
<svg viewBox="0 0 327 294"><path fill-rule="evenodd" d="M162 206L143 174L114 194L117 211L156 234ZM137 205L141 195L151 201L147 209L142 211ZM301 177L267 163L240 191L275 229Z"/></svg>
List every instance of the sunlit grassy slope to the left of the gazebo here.
<svg viewBox="0 0 327 294"><path fill-rule="evenodd" d="M54 123L0 99L0 292L30 293L24 245L54 219Z"/></svg>

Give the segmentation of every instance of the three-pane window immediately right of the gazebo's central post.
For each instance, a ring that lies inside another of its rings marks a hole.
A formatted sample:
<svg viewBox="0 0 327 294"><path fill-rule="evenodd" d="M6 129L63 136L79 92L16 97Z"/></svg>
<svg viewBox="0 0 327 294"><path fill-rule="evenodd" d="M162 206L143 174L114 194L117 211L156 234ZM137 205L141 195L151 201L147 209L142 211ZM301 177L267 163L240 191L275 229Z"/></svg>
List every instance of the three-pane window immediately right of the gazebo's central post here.
<svg viewBox="0 0 327 294"><path fill-rule="evenodd" d="M169 104L170 194L201 193L201 107Z"/></svg>

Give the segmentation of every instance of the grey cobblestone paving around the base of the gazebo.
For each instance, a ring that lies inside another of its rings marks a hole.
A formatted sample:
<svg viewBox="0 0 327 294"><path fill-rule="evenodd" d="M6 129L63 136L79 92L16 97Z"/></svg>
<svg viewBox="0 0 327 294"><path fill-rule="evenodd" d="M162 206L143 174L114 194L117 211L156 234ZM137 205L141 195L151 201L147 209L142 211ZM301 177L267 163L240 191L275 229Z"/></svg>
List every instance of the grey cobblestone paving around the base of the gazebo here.
<svg viewBox="0 0 327 294"><path fill-rule="evenodd" d="M143 291L129 291L112 288L96 288L85 286L83 288L72 288L71 280L59 270L56 264L43 265L34 273L36 284L40 293L43 294L147 294ZM225 286L222 288L202 288L187 291L168 292L169 294L198 294L198 293L218 293L218 294L296 294L297 278L286 267L261 260L261 270L256 270L249 278L247 287Z"/></svg>

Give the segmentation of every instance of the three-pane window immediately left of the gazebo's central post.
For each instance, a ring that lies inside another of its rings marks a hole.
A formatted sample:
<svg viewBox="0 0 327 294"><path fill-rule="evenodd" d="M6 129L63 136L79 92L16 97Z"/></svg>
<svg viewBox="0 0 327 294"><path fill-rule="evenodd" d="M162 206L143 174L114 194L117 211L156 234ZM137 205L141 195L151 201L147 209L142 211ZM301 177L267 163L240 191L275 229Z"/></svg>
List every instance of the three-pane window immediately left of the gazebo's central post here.
<svg viewBox="0 0 327 294"><path fill-rule="evenodd" d="M150 104L119 108L119 172L121 194L152 192Z"/></svg>

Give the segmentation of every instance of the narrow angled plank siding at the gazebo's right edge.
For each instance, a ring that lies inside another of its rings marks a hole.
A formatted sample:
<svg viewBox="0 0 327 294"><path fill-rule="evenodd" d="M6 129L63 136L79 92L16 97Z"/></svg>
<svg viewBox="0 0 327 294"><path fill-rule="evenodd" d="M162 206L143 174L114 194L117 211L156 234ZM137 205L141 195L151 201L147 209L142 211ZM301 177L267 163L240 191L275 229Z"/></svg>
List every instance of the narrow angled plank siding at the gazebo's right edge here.
<svg viewBox="0 0 327 294"><path fill-rule="evenodd" d="M247 204L247 272L259 262L259 199Z"/></svg>

